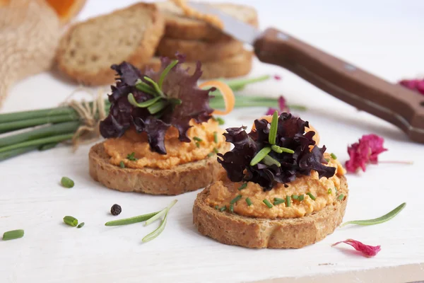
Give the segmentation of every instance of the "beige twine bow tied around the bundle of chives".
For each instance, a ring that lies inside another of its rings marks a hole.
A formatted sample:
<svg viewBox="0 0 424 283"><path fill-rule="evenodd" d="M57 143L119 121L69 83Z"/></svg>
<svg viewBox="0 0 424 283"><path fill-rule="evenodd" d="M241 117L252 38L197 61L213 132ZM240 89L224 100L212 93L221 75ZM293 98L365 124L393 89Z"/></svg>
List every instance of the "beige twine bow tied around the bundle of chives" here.
<svg viewBox="0 0 424 283"><path fill-rule="evenodd" d="M93 102L88 103L86 100L70 100L78 91L89 93L93 96ZM80 144L90 144L100 138L100 122L107 116L105 99L102 97L102 93L103 90L101 88L98 90L97 95L95 95L87 88L80 86L76 88L76 90L66 98L65 103L63 103L73 108L81 118L81 126L76 129L71 141L73 151L76 151Z"/></svg>

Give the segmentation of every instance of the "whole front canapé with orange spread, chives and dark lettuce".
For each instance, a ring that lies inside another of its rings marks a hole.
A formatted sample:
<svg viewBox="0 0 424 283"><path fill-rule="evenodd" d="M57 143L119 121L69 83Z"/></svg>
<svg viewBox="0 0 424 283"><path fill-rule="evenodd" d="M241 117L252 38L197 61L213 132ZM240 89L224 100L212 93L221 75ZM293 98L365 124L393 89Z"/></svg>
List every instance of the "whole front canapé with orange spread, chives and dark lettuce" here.
<svg viewBox="0 0 424 283"><path fill-rule="evenodd" d="M220 243L247 248L302 248L341 224L348 185L334 154L317 146L308 122L288 113L230 128L235 145L218 162L218 181L199 193L193 221Z"/></svg>

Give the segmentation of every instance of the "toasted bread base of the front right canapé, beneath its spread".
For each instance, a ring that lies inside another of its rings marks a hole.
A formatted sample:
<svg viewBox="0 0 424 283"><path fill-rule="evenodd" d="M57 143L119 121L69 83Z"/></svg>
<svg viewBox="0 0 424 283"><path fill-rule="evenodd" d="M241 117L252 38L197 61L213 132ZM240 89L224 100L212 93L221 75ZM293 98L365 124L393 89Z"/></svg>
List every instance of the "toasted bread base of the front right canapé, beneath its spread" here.
<svg viewBox="0 0 424 283"><path fill-rule="evenodd" d="M341 177L346 197L336 200L319 212L293 219L259 219L220 212L208 206L209 188L197 195L193 223L203 235L220 243L247 248L302 248L321 241L341 224L348 199L348 184Z"/></svg>

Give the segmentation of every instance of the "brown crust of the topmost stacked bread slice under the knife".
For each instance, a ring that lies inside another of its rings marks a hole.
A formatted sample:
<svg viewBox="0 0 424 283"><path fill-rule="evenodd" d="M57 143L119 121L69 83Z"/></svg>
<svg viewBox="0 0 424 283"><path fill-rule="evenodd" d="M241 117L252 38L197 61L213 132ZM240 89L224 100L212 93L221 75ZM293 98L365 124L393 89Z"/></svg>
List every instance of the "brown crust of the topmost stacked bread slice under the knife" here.
<svg viewBox="0 0 424 283"><path fill-rule="evenodd" d="M167 11L167 6L173 5L172 3L160 2L158 7L160 11L163 11L166 21L165 37L176 38L179 40L203 40L208 42L220 41L228 39L228 35L225 35L221 30L213 28L204 21L199 21L194 18L187 18L184 16L175 15L170 11ZM215 6L234 6L240 8L248 8L254 11L254 8L245 5L236 4L217 4ZM258 16L255 13L249 15L245 19L245 23L253 25L258 28Z"/></svg>

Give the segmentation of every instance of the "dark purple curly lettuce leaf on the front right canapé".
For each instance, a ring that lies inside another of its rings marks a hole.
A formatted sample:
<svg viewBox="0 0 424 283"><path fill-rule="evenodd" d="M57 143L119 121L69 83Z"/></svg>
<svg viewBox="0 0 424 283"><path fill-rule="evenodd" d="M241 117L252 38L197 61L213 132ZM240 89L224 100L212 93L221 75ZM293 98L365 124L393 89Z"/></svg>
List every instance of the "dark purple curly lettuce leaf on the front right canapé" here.
<svg viewBox="0 0 424 283"><path fill-rule="evenodd" d="M325 146L319 148L315 145L314 132L305 133L308 122L288 113L282 113L278 117L278 129L276 145L292 149L293 154L271 151L269 156L281 164L267 166L258 163L251 166L252 158L269 144L269 122L255 120L255 131L247 134L245 128L227 129L225 138L234 144L234 149L225 154L218 154L218 162L227 171L228 178L232 182L242 180L258 183L264 190L271 190L275 183L290 183L298 175L310 175L311 171L317 171L319 178L330 178L336 173L336 168L325 166ZM310 150L310 146L313 146Z"/></svg>

